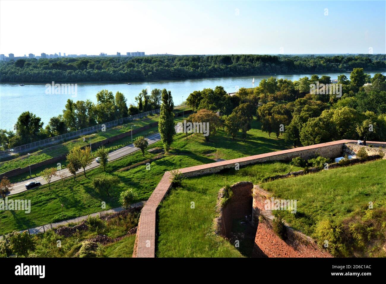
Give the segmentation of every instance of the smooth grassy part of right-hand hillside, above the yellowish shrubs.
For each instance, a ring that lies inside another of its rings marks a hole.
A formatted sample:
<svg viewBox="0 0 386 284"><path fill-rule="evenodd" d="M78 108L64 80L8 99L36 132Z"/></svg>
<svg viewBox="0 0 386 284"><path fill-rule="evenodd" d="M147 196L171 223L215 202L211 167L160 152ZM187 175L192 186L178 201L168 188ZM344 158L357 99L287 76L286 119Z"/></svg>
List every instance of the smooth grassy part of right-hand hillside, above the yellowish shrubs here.
<svg viewBox="0 0 386 284"><path fill-rule="evenodd" d="M370 201L374 209L386 207L386 160L274 180L261 186L276 198L296 199L297 213L285 213L285 220L311 236L323 219L340 223L350 216L361 216Z"/></svg>

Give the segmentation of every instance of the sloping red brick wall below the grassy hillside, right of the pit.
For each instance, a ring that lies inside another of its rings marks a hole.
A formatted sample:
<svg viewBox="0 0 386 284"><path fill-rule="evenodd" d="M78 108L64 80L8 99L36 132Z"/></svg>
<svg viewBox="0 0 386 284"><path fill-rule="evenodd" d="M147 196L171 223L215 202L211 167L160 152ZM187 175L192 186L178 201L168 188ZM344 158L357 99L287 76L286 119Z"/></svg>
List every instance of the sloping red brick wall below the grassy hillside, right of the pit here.
<svg viewBox="0 0 386 284"><path fill-rule="evenodd" d="M286 224L287 238L282 240L272 228L274 216L265 210L264 201L271 194L258 185L253 189L252 221L257 225L253 255L255 257L332 257L326 250L318 248L315 241Z"/></svg>

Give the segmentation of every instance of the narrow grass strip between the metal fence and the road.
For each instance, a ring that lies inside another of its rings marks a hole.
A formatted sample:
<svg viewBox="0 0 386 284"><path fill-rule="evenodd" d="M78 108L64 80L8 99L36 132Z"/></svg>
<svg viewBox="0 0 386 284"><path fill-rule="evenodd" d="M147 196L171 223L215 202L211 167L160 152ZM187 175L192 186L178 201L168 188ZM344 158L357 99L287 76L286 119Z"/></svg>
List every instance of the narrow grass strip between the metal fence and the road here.
<svg viewBox="0 0 386 284"><path fill-rule="evenodd" d="M175 114L179 114L182 111L190 110L189 107L184 107L178 110L175 110ZM182 117L176 118L176 121L181 121ZM154 115L154 116L149 116L149 117L144 117L142 119L134 119L133 121L130 121L129 123L122 124L119 126L115 126L110 129L106 129L106 131L100 131L98 133L95 133L95 135L91 136L91 134L87 134L85 136L80 136L80 138L73 139L71 141L66 141L64 143L58 144L58 145L53 145L50 147L47 147L42 150L37 150L30 155L23 155L19 156L17 158L14 158L12 160L7 160L4 162L0 162L0 173L7 172L9 170L13 170L15 168L23 168L27 167L28 165L32 165L35 163L42 162L44 160L48 160L50 158L56 157L56 156L61 156L66 153L68 153L69 150L71 150L74 146L87 146L90 144L90 139L91 138L91 143L95 143L98 141L105 140L107 138L111 138L113 136L117 136L119 134L125 133L130 131L131 126L135 124L135 128L143 127L148 124L151 124L153 122L157 122L159 120L159 115ZM145 131L141 131L140 135L147 135L147 134L152 134L152 133L157 133L158 132L158 126L152 127L151 129L146 129ZM140 135L133 135L137 137ZM86 138L86 141L83 141L83 137ZM120 145L127 145L131 143L131 137L127 136L122 139L119 139L118 141L115 141L111 143L111 145L108 145L109 147L114 147L114 146L120 146ZM55 166L56 167L56 166ZM36 171L35 171L36 172ZM40 171L39 171L40 172ZM29 176L29 174L27 174ZM25 176L25 175L24 175Z"/></svg>

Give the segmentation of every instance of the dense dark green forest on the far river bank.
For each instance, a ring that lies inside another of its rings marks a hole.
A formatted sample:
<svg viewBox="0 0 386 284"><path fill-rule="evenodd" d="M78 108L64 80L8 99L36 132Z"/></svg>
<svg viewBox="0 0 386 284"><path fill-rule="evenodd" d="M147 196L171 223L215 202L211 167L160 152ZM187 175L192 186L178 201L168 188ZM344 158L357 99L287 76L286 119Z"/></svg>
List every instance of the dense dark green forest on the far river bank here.
<svg viewBox="0 0 386 284"><path fill-rule="evenodd" d="M0 63L0 82L129 82L386 68L384 54L210 55L19 59Z"/></svg>

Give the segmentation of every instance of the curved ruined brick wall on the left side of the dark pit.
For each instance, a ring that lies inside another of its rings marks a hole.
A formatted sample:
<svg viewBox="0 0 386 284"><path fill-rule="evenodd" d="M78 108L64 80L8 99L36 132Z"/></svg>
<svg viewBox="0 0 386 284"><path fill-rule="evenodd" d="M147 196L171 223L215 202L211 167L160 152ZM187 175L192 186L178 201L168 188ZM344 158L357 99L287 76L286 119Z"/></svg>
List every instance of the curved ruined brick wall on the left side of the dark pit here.
<svg viewBox="0 0 386 284"><path fill-rule="evenodd" d="M218 192L217 213L215 218L215 232L225 238L230 237L233 219L244 218L252 213L252 182L238 182L231 187L232 196L225 205L221 205L224 189Z"/></svg>

